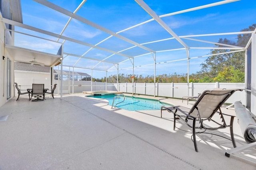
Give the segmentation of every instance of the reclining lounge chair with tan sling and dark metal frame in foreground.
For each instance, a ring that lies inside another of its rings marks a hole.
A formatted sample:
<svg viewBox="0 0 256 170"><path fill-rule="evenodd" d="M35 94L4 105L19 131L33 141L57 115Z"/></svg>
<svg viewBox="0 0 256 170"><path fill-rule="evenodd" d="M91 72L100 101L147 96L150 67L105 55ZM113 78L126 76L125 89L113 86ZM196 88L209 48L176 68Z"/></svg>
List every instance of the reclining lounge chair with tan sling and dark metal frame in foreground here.
<svg viewBox="0 0 256 170"><path fill-rule="evenodd" d="M224 113L222 113L220 107L224 102L237 90L242 91L242 89L213 89L204 91L196 100L191 109L183 106L173 106L173 107L161 107L161 117L162 110L167 110L174 114L174 125L173 130L175 130L176 119L182 120L188 127L192 128L192 141L194 143L194 148L198 152L196 145L196 133L204 133L206 130L217 130L230 127L230 136L234 148L236 143L233 134L233 115L230 116L230 125L226 124L224 119ZM215 119L213 116L218 113L220 117ZM204 121L212 121L215 127L209 127L204 123ZM197 122L197 123L196 123ZM203 132L196 132L196 129L204 129Z"/></svg>

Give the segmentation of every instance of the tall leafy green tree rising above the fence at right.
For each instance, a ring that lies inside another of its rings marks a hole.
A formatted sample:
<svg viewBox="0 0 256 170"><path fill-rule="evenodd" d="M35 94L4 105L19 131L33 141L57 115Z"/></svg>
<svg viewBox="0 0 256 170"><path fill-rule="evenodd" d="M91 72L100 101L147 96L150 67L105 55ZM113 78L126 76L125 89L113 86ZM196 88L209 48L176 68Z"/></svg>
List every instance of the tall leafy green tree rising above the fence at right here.
<svg viewBox="0 0 256 170"><path fill-rule="evenodd" d="M255 28L256 24L253 24L246 29L242 29L241 31L253 31ZM251 34L240 34L237 36L236 43L226 38L219 39L218 43L245 47L250 37ZM218 47L225 46L218 45ZM207 82L244 82L244 52L220 54L225 52L232 52L232 50L211 50L210 55L212 56L208 57L206 61L201 64L201 70L197 72L197 78L190 80L197 81L198 78L200 78L201 81ZM234 76L236 77L234 78Z"/></svg>

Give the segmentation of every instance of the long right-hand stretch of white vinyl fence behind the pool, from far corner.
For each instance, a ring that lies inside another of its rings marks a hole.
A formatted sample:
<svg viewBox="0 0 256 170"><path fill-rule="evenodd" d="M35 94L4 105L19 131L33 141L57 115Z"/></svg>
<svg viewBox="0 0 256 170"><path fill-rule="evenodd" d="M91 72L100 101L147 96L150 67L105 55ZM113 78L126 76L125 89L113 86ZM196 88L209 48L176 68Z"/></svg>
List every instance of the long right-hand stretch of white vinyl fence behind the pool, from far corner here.
<svg viewBox="0 0 256 170"><path fill-rule="evenodd" d="M161 96L170 98L182 98L182 96L198 96L204 90L211 90L214 88L226 88L226 89L244 89L244 83L118 83L114 84L116 89L124 93ZM234 103L241 101L245 104L246 95L245 91L235 92L226 103Z"/></svg>

